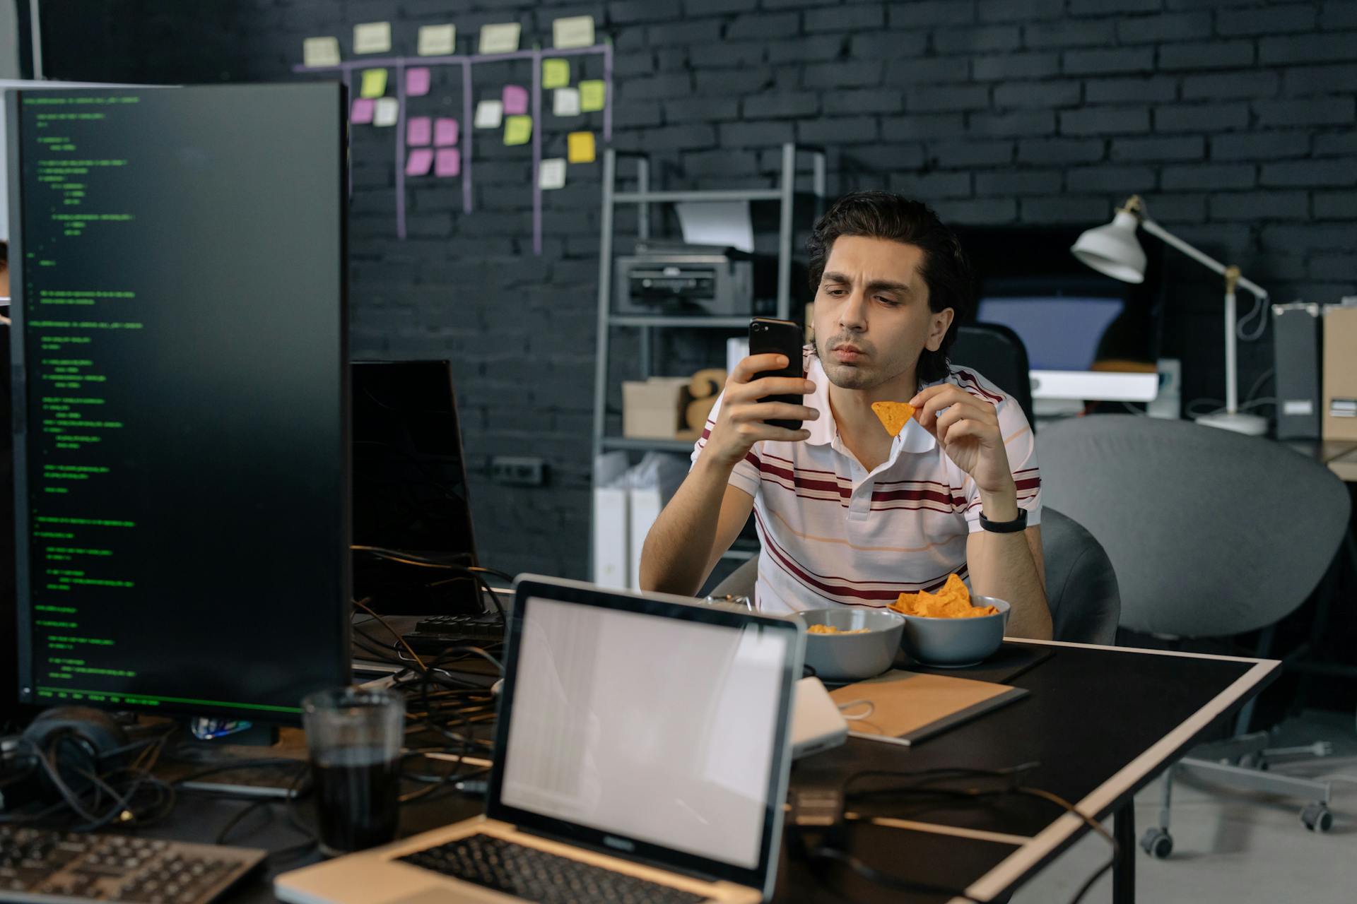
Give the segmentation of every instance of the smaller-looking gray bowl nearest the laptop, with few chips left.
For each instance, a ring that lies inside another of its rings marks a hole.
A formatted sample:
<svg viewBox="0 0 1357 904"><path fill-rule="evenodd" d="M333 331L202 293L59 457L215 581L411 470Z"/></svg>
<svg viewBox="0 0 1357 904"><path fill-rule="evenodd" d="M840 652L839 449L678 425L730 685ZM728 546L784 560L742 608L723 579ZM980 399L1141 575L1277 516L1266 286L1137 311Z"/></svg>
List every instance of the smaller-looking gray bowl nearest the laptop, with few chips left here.
<svg viewBox="0 0 1357 904"><path fill-rule="evenodd" d="M811 609L806 623L806 664L824 682L856 682L890 668L905 617L886 609ZM814 633L817 625L839 633Z"/></svg>

